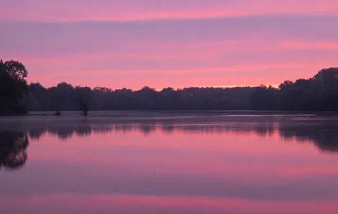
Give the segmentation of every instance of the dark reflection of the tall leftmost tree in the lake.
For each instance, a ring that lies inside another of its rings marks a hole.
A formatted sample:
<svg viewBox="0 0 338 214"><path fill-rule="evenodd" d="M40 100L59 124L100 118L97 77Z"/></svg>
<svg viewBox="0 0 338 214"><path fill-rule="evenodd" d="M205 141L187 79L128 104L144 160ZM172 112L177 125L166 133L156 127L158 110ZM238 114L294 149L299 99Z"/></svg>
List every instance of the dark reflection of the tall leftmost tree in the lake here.
<svg viewBox="0 0 338 214"><path fill-rule="evenodd" d="M28 136L24 132L0 132L0 169L15 170L27 160Z"/></svg>

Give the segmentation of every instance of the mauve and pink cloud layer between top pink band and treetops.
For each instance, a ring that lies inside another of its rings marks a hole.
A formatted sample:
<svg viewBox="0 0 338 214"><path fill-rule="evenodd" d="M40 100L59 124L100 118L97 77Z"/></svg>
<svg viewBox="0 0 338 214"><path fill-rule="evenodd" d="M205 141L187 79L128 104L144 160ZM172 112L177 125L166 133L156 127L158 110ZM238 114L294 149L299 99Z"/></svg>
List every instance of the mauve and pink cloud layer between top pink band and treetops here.
<svg viewBox="0 0 338 214"><path fill-rule="evenodd" d="M59 81L113 88L279 84L336 66L338 29L332 26L337 23L338 17L323 15L4 21L0 54L23 61L29 81L47 86Z"/></svg>

